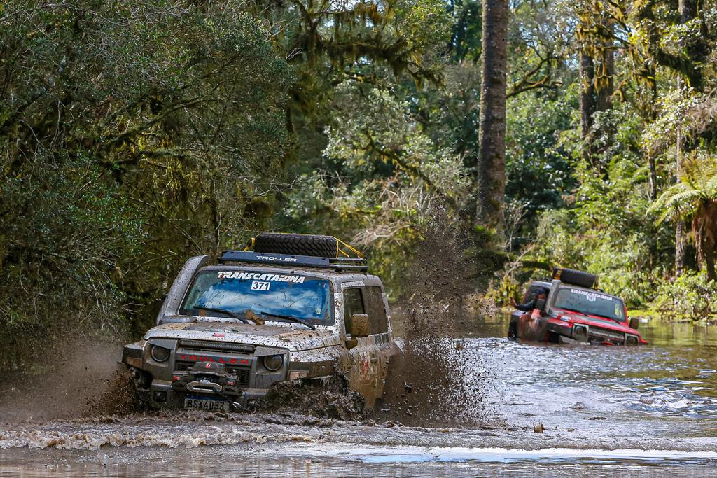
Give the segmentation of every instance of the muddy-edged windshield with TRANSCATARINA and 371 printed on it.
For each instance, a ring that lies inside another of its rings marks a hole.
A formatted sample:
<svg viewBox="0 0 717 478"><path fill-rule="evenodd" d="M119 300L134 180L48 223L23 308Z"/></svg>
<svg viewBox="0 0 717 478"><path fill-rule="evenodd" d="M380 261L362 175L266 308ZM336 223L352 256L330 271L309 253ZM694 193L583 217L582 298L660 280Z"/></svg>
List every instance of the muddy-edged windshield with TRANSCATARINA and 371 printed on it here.
<svg viewBox="0 0 717 478"><path fill-rule="evenodd" d="M244 317L248 310L291 315L313 325L332 325L328 280L255 271L204 271L194 279L180 313L221 317L197 307L223 309ZM266 315L265 320L288 322Z"/></svg>

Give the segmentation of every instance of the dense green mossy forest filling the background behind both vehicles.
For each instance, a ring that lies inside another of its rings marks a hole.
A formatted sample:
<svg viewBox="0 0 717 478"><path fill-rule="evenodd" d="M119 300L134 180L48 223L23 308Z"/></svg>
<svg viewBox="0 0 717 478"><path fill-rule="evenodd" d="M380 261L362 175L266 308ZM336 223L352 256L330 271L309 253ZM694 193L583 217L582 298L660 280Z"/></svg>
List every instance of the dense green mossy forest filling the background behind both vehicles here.
<svg viewBox="0 0 717 478"><path fill-rule="evenodd" d="M483 3L507 23L473 0L0 1L0 369L142 333L186 258L270 230L348 240L393 298L449 228L498 304L561 264L715 317L717 1ZM504 165L481 158L485 32Z"/></svg>

